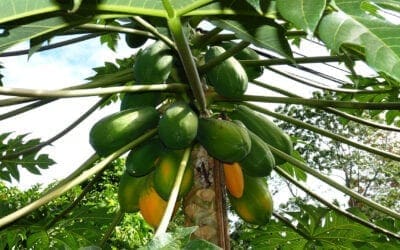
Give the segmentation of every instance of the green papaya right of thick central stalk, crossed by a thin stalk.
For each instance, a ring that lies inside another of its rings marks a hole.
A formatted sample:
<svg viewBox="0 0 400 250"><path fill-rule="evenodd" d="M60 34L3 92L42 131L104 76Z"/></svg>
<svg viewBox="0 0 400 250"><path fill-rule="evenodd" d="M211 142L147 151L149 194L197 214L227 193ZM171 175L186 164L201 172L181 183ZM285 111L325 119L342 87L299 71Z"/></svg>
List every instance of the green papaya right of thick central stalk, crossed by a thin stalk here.
<svg viewBox="0 0 400 250"><path fill-rule="evenodd" d="M220 46L213 46L207 50L204 59L205 63L221 55L225 49ZM239 98L247 90L248 78L246 71L234 57L229 57L206 73L207 82L214 87L221 96L228 98Z"/></svg>

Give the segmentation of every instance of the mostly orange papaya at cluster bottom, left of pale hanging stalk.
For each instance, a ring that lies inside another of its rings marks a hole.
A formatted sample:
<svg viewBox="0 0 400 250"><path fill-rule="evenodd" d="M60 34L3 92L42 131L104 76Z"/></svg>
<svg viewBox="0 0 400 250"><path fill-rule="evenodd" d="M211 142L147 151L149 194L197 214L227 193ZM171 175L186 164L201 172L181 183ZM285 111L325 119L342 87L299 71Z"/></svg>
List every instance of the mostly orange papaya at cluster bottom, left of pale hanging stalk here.
<svg viewBox="0 0 400 250"><path fill-rule="evenodd" d="M153 186L153 178L147 179L144 189L139 197L139 211L143 219L153 228L157 228L167 208L167 201L165 201L157 193Z"/></svg>

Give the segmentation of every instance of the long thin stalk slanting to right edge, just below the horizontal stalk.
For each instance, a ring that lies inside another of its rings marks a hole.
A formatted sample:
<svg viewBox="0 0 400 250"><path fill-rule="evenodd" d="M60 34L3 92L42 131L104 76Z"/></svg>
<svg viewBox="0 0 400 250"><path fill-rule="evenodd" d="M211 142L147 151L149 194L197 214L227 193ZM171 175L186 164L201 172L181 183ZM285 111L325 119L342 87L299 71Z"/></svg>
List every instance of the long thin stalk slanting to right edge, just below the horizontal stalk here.
<svg viewBox="0 0 400 250"><path fill-rule="evenodd" d="M350 140L350 139L348 139L348 138L346 138L344 136L331 133L331 132L329 132L327 130L315 127L315 126L310 125L308 123L302 122L302 121L300 121L298 119L292 118L292 117L287 116L287 115L279 114L279 113L276 113L276 112L272 112L272 111L270 111L268 109L259 107L259 106L254 105L254 104L250 104L250 103L244 103L244 104L246 106L250 107L253 110L256 110L256 111L261 112L263 114L275 117L275 118L277 118L279 120L289 122L291 124L294 124L296 126L305 128L307 130L313 131L313 132L318 133L318 134L320 134L322 136L326 136L326 137L331 138L333 140L345 143L347 145L353 146L355 148L358 148L358 149L361 149L361 150L364 150L364 151L367 151L367 152L370 152L370 153L373 153L373 154L376 154L376 155L380 155L380 156L389 158L391 160L400 161L400 155L393 154L391 152L387 152L387 151L384 151L384 150L381 150L381 149L378 149L378 148L375 148L375 147L371 147L371 146L368 146L368 145L365 145L365 144L362 144L362 143L359 143L359 142L352 141L352 140Z"/></svg>

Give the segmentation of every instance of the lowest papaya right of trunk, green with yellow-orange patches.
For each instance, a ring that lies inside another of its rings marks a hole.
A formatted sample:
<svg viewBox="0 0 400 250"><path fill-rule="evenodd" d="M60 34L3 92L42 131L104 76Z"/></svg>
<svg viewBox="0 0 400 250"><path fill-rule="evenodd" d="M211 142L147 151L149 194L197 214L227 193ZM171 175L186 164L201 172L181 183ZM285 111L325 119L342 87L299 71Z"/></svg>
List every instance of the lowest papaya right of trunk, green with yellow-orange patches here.
<svg viewBox="0 0 400 250"><path fill-rule="evenodd" d="M243 195L235 198L228 193L233 210L244 221L265 225L273 211L273 200L265 178L244 175Z"/></svg>

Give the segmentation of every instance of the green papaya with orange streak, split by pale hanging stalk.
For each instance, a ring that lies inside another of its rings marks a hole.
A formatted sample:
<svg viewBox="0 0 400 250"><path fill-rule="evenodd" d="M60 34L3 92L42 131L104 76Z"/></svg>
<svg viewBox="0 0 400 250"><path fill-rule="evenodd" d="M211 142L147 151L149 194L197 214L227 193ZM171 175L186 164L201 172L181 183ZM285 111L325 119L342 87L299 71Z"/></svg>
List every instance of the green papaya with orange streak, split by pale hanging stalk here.
<svg viewBox="0 0 400 250"><path fill-rule="evenodd" d="M168 200L174 187L178 169L183 158L184 150L165 150L161 154L154 170L154 189L164 199ZM179 188L178 198L186 195L193 185L194 173L190 164L185 168Z"/></svg>

